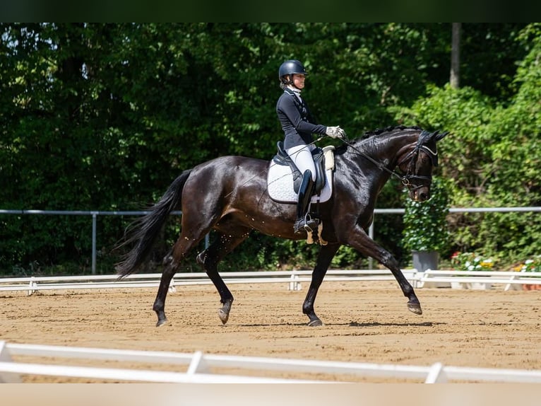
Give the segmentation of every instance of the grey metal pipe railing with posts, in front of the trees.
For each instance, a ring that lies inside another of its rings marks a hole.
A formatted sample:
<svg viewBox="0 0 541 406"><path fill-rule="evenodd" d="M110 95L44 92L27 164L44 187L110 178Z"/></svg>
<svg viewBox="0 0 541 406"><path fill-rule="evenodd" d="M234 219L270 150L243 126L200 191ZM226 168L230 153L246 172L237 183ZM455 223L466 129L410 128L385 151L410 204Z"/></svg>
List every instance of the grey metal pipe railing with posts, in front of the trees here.
<svg viewBox="0 0 541 406"><path fill-rule="evenodd" d="M404 214L405 209L374 209L376 214ZM510 213L510 212L541 211L541 207L451 207L450 213ZM143 216L148 211L78 211L78 210L4 210L0 214L18 215L49 215L49 216L92 216L92 274L96 273L96 240L97 240L97 216ZM172 211L171 214L181 215L182 211ZM369 228L370 238L374 238L374 221ZM209 237L205 237L205 246L208 247ZM369 269L374 267L372 258L369 258Z"/></svg>

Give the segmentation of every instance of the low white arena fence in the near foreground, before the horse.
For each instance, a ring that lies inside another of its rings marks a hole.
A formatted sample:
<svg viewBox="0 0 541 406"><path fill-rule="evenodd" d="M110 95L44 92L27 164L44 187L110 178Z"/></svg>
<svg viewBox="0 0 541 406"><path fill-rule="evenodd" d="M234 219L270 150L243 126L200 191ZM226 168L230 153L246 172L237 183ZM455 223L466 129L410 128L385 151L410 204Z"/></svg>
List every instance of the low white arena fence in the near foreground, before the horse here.
<svg viewBox="0 0 541 406"><path fill-rule="evenodd" d="M141 362L157 365L184 366L184 371L159 371L142 369L100 368L61 364L29 364L14 361L17 356L38 358L90 359ZM238 375L220 373L219 369L234 369ZM13 344L0 342L0 383L20 383L22 375L63 376L99 381L129 381L153 383L316 383L322 380L294 378L266 378L254 376L249 371L264 373L282 371L292 373L328 374L336 381L352 382L352 377L410 379L424 383L500 382L541 383L541 371L525 369L486 369L460 366L430 366L392 364L368 364L343 361L316 361L303 359L278 359L255 356L228 356L203 354L203 352L176 353L137 351L126 349L99 349L83 347L60 347L39 344ZM244 373L244 374L243 374Z"/></svg>

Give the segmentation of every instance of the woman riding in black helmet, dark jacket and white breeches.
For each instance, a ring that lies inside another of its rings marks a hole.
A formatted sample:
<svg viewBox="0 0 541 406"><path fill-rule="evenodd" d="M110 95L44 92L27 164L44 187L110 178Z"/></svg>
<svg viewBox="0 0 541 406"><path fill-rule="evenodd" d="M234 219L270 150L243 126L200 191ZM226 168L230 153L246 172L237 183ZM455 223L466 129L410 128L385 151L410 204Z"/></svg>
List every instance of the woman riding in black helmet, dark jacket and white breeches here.
<svg viewBox="0 0 541 406"><path fill-rule="evenodd" d="M302 231L314 231L318 225L317 221L311 219L308 214L312 187L316 180L316 168L311 155L311 151L316 146L312 133L333 138L345 137L345 131L339 126L326 127L316 124L307 103L301 98L306 76L304 66L297 59L285 61L278 69L280 88L283 88L284 93L280 95L276 103L276 112L285 134L284 149L302 173L297 197L297 221L293 225L296 234Z"/></svg>

